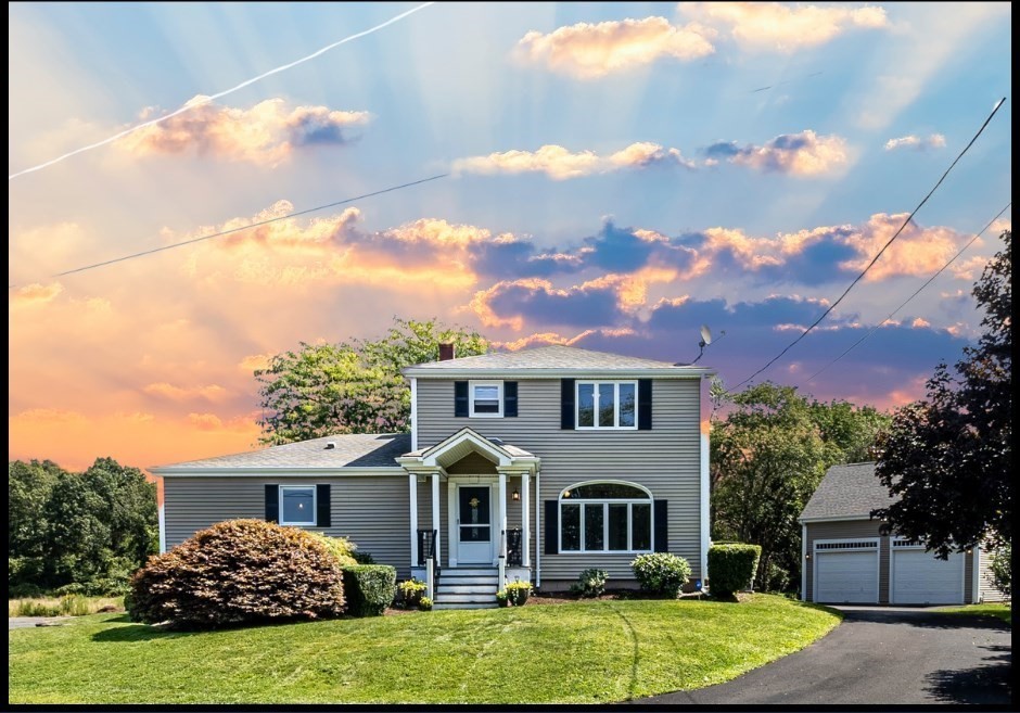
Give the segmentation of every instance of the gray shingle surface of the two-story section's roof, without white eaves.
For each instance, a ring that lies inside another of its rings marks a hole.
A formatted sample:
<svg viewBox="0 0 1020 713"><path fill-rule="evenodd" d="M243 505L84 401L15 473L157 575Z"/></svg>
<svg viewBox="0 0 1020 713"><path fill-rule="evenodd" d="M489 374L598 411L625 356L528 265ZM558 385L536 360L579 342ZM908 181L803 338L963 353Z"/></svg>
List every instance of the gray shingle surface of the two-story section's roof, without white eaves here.
<svg viewBox="0 0 1020 713"><path fill-rule="evenodd" d="M675 367L670 361L655 359L641 359L608 352L594 352L576 346L539 346L520 352L499 352L483 354L481 356L447 359L446 361L429 361L411 367L411 369L428 369L435 371L461 369L619 369L627 371L633 369L684 369Z"/></svg>

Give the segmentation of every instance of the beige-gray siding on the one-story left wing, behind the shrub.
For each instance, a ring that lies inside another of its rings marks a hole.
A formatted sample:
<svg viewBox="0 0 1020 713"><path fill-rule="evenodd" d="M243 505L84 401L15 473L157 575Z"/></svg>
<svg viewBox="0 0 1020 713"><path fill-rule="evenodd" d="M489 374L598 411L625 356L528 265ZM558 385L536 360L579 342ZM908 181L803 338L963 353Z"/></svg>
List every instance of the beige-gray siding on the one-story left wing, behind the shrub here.
<svg viewBox="0 0 1020 713"><path fill-rule="evenodd" d="M286 478L241 475L164 479L166 545L174 547L199 530L224 520L266 517L267 483L329 483L332 526L309 527L334 537L349 537L380 564L410 576L410 500L407 475Z"/></svg>

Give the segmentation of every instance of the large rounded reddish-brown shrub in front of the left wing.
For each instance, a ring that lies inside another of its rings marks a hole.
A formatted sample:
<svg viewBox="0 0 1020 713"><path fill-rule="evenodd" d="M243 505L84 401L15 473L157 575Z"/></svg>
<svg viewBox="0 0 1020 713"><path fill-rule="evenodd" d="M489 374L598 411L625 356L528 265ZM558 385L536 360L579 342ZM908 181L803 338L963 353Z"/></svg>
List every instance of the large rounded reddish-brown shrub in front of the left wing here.
<svg viewBox="0 0 1020 713"><path fill-rule="evenodd" d="M343 574L304 530L229 520L151 557L131 577L127 603L132 621L181 628L337 616Z"/></svg>

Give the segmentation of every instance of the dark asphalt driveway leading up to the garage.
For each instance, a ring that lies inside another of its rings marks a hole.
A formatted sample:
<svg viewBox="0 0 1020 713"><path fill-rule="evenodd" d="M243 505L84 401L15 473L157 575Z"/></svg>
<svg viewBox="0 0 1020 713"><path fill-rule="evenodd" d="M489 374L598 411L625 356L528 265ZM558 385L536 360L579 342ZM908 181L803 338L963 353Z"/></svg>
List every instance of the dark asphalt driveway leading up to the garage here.
<svg viewBox="0 0 1020 713"><path fill-rule="evenodd" d="M839 607L843 622L806 649L739 678L633 703L1009 704L1010 628L991 616Z"/></svg>

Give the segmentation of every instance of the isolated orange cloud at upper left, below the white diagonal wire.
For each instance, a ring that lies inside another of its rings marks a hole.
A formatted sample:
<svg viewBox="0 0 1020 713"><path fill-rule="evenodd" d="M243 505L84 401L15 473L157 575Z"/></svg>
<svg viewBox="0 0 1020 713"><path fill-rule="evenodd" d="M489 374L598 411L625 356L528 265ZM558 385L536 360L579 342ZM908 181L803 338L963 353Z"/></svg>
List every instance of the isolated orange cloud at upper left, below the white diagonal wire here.
<svg viewBox="0 0 1020 713"><path fill-rule="evenodd" d="M368 112L326 106L289 110L282 99L268 99L250 110L219 106L207 99L194 97L184 103L194 106L192 110L132 131L115 145L137 156L194 151L275 166L301 147L344 143L346 129L364 126L371 118ZM141 118L149 119L155 112L149 107Z"/></svg>

